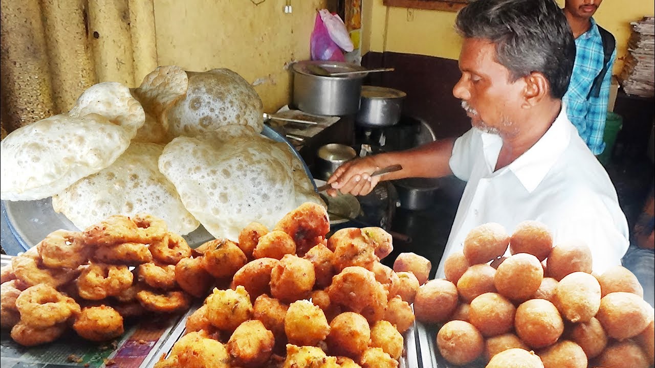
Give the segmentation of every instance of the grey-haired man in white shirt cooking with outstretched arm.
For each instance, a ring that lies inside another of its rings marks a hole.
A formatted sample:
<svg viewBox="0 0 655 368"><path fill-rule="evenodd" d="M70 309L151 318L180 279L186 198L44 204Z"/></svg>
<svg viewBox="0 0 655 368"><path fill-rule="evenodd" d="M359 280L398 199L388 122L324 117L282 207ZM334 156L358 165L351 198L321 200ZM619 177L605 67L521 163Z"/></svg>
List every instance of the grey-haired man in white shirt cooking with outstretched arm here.
<svg viewBox="0 0 655 368"><path fill-rule="evenodd" d="M457 139L347 162L328 183L367 194L392 164L403 170L382 178L442 177L467 181L443 261L474 227L488 222L510 234L524 220L544 223L555 245L584 240L593 270L621 264L628 230L616 191L598 160L576 134L561 98L567 90L575 43L553 0L477 0L456 21L464 37L455 97L473 128Z"/></svg>

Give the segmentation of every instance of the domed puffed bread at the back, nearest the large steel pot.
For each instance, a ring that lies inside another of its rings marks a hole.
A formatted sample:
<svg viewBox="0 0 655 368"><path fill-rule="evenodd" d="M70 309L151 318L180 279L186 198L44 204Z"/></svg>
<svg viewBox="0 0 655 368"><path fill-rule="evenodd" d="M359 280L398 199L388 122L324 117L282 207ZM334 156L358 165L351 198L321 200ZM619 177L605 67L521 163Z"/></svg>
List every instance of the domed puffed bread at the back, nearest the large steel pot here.
<svg viewBox="0 0 655 368"><path fill-rule="evenodd" d="M167 111L170 136L193 137L226 125L264 128L263 103L255 89L230 69L187 71L189 86Z"/></svg>

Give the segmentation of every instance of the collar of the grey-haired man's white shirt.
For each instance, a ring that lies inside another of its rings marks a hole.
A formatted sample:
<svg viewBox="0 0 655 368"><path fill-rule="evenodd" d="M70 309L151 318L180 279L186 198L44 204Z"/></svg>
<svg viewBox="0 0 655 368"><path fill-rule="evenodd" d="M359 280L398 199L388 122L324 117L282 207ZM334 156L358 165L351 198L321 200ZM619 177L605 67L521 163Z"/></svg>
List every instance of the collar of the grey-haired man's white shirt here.
<svg viewBox="0 0 655 368"><path fill-rule="evenodd" d="M529 193L532 193L569 145L571 127L572 124L566 115L566 106L562 103L559 115L557 115L555 122L548 128L544 136L536 141L533 147L530 147L523 155L499 171L511 170L517 179L521 181L523 187ZM482 140L485 156L497 160L502 146L500 137L495 134L483 133ZM487 164L491 165L491 171L493 172L493 166L496 164L495 160L487 162Z"/></svg>

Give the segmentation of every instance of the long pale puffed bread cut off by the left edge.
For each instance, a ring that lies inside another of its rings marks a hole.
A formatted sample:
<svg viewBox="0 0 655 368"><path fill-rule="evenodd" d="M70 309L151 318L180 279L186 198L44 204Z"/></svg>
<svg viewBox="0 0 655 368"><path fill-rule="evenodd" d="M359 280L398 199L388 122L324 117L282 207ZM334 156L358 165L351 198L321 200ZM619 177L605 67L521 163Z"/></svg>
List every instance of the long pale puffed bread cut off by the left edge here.
<svg viewBox="0 0 655 368"><path fill-rule="evenodd" d="M37 200L60 193L111 165L131 138L98 114L55 115L22 126L1 143L1 198Z"/></svg>

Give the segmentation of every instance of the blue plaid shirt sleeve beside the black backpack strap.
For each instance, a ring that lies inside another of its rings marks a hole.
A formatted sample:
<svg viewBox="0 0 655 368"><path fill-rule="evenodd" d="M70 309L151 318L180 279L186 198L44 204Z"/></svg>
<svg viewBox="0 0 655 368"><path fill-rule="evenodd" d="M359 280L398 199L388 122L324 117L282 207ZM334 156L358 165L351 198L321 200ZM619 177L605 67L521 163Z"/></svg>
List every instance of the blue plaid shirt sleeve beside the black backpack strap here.
<svg viewBox="0 0 655 368"><path fill-rule="evenodd" d="M587 120L589 132L586 136L586 143L594 155L600 155L605 149L605 122L607 120L607 104L610 98L610 85L612 84L612 67L616 58L616 48L608 61L607 73L601 84L601 92L598 97L589 96L589 109Z"/></svg>

